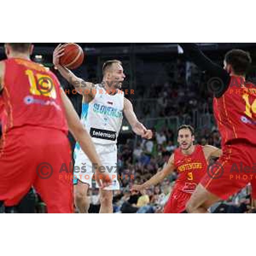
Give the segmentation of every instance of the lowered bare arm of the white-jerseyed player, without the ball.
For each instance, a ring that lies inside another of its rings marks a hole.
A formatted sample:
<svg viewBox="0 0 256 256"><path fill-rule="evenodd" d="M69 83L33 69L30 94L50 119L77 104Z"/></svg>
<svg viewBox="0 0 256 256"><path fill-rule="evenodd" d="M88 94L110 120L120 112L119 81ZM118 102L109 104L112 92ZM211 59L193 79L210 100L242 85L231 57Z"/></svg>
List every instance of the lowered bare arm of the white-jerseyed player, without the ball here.
<svg viewBox="0 0 256 256"><path fill-rule="evenodd" d="M133 105L126 98L124 98L124 114L135 134L148 140L153 137L152 131L145 128L145 126L138 121L137 116L134 113Z"/></svg>

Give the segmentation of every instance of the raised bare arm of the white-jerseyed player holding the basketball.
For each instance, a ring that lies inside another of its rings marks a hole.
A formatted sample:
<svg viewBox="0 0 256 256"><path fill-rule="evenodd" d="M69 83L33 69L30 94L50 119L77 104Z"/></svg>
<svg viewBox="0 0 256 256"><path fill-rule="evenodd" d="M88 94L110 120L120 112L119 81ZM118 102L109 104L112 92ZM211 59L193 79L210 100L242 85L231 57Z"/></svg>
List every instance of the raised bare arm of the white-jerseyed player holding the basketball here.
<svg viewBox="0 0 256 256"><path fill-rule="evenodd" d="M59 73L61 73L61 76L72 84L79 94L86 94L94 97L94 94L92 93L92 90L95 88L94 84L84 81L84 79L77 77L69 69L63 67L60 64L60 58L62 55L64 55L64 47L63 45L59 44L53 52L53 64L58 69Z"/></svg>

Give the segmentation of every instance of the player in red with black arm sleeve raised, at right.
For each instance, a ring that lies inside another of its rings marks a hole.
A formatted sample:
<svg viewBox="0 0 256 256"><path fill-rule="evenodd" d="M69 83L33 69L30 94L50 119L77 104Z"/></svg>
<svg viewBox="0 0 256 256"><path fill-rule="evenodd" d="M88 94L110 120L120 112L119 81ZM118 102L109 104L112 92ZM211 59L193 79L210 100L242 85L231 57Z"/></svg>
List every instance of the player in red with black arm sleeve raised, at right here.
<svg viewBox="0 0 256 256"><path fill-rule="evenodd" d="M214 93L213 109L222 139L223 154L209 168L187 204L188 212L207 212L215 202L229 198L249 182L256 199L253 175L256 155L256 86L245 80L250 55L233 49L225 55L224 69L207 58L196 44L180 44L199 68L212 76L208 90ZM243 166L242 169L240 166Z"/></svg>

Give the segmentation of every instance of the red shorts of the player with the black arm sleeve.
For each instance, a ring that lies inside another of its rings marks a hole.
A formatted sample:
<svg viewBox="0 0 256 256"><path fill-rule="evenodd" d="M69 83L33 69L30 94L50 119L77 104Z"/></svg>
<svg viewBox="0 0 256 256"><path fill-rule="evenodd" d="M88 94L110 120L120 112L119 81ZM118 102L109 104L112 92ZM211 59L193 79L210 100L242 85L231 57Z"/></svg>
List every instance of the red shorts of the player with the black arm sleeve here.
<svg viewBox="0 0 256 256"><path fill-rule="evenodd" d="M236 143L226 145L223 155L210 166L201 184L212 194L226 200L248 183L256 199L256 145Z"/></svg>

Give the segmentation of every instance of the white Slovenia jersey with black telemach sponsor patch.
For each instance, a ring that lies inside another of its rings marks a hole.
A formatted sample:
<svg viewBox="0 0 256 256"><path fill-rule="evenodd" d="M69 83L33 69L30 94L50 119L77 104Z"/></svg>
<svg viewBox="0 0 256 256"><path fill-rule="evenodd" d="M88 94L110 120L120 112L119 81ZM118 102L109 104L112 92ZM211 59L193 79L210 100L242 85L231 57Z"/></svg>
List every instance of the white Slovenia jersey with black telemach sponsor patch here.
<svg viewBox="0 0 256 256"><path fill-rule="evenodd" d="M81 121L95 144L116 144L122 125L124 93L110 95L96 84L96 94L90 103L82 103Z"/></svg>

